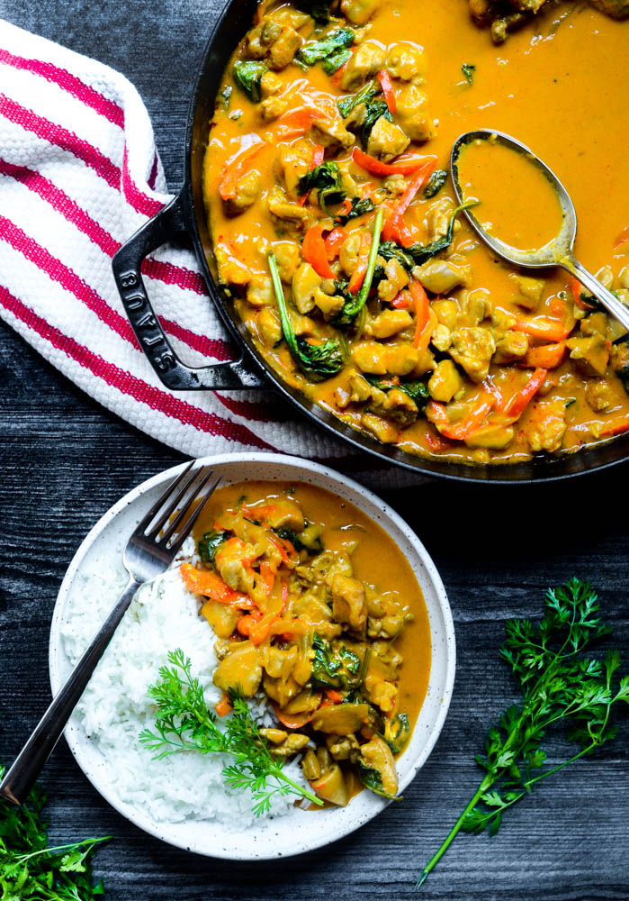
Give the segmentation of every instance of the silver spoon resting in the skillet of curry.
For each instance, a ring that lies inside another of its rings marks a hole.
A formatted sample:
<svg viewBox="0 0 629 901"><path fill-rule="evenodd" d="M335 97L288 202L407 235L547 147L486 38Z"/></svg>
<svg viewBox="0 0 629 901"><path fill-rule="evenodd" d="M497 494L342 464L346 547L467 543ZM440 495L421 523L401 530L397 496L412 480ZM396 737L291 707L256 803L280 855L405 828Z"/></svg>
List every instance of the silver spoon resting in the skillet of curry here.
<svg viewBox="0 0 629 901"><path fill-rule="evenodd" d="M486 232L473 214L472 209L466 209L464 213L474 231L490 246L494 253L516 266L522 266L523 268L561 266L563 269L566 269L572 276L578 278L581 285L600 301L608 313L616 316L618 322L622 323L627 332L629 332L629 308L621 304L617 297L607 290L607 287L601 285L598 278L595 278L588 269L582 266L572 252L574 239L577 234L577 214L570 195L552 169L549 169L539 157L536 157L533 150L526 147L526 144L516 141L515 138L510 137L508 134L486 128L478 129L475 132L465 132L460 138L457 138L450 156L450 168L454 192L459 204L464 202L463 191L459 182L459 156L464 146L478 140L498 141L501 144L505 144L511 150L517 150L518 153L524 154L532 165L542 171L557 192L557 197L562 207L562 228L559 234L553 238L553 241L549 241L539 250L518 250L511 244L506 244L504 241L500 241L489 232Z"/></svg>

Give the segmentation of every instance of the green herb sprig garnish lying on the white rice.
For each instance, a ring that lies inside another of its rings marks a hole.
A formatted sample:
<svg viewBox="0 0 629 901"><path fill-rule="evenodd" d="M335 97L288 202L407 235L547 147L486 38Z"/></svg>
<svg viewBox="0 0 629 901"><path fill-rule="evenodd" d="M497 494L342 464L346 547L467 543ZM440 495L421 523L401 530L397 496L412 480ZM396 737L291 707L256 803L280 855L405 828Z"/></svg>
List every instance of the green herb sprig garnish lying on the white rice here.
<svg viewBox="0 0 629 901"><path fill-rule="evenodd" d="M208 709L199 679L193 677L190 658L177 648L169 652L168 663L159 669L160 681L148 689L157 705L155 731L145 729L139 735L139 741L155 752L157 760L180 751L233 757L234 762L223 770L223 778L230 788L251 792L256 816L271 809L275 796L294 795L322 804L319 797L283 772L283 761L269 751L240 693L229 693L233 711L226 717L223 731Z"/></svg>

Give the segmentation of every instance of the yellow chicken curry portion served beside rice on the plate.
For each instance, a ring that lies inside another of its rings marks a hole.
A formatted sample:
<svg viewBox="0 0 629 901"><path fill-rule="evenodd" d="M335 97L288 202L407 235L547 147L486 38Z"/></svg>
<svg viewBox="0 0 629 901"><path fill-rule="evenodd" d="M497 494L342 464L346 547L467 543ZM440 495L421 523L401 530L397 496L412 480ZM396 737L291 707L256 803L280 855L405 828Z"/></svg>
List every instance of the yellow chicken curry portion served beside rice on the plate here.
<svg viewBox="0 0 629 901"><path fill-rule="evenodd" d="M218 712L230 690L262 692L272 751L303 755L324 801L346 805L362 783L394 796L431 661L424 598L397 545L324 489L264 481L219 488L194 538L201 559L181 571L217 635Z"/></svg>

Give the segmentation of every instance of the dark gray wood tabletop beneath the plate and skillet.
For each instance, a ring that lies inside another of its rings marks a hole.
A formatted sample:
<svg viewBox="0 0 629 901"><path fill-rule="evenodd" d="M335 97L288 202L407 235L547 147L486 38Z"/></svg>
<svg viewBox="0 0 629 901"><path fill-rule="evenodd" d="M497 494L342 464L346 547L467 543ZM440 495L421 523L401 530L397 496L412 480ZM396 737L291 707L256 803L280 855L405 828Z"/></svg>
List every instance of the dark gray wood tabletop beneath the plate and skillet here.
<svg viewBox="0 0 629 901"><path fill-rule="evenodd" d="M462 0L463 2L463 0ZM187 95L216 0L0 0L0 16L121 70L148 105L171 187L180 183ZM0 24L0 28L2 25ZM0 325L0 760L13 759L49 700L58 586L85 532L139 481L182 459L94 404ZM627 467L539 488L431 483L388 499L434 555L456 623L458 666L444 732L406 792L323 851L263 865L203 859L157 842L96 794L61 742L44 771L55 839L111 834L97 858L108 897L410 897L414 878L477 784L473 754L513 699L498 660L503 620L535 617L544 587L576 574L599 589L629 666ZM629 728L553 777L499 835L462 835L427 899L629 898ZM551 758L562 742L549 742Z"/></svg>

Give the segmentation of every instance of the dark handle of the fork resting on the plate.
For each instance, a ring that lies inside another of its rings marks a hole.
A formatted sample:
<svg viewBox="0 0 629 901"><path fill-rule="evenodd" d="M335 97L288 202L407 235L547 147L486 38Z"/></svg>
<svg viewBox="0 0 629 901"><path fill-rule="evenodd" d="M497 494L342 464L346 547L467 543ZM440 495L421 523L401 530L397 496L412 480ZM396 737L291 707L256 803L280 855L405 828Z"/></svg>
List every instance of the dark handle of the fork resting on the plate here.
<svg viewBox="0 0 629 901"><path fill-rule="evenodd" d="M0 796L13 801L16 805L22 805L28 797L139 585L134 578L130 578L112 612L94 635L92 643L35 726L31 738L18 754L13 766L4 776L0 783Z"/></svg>

